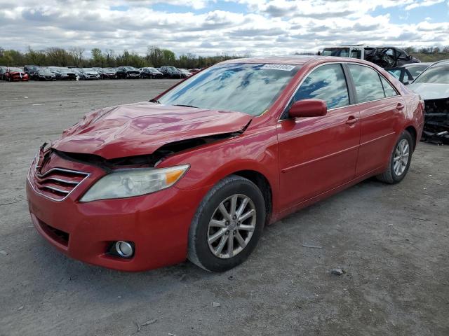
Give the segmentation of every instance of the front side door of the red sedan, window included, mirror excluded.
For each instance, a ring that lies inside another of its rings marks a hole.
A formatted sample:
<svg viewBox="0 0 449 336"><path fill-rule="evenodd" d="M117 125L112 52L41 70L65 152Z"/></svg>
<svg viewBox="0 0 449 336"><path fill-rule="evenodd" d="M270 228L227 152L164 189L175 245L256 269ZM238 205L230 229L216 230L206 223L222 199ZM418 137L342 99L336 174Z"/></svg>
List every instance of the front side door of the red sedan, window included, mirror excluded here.
<svg viewBox="0 0 449 336"><path fill-rule="evenodd" d="M309 98L325 100L327 115L287 117L277 125L283 209L354 179L359 113L357 106L350 106L342 64L325 64L312 70L289 106Z"/></svg>

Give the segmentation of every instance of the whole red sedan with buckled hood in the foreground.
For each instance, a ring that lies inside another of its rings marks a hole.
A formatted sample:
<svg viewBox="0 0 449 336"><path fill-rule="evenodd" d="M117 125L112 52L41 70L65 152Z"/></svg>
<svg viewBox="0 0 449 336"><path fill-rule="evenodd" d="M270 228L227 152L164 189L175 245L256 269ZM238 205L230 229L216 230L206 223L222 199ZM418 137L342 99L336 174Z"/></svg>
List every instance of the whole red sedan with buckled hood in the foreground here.
<svg viewBox="0 0 449 336"><path fill-rule="evenodd" d="M264 225L377 176L406 176L420 97L372 63L232 59L150 102L88 114L27 176L36 229L72 258L221 272Z"/></svg>

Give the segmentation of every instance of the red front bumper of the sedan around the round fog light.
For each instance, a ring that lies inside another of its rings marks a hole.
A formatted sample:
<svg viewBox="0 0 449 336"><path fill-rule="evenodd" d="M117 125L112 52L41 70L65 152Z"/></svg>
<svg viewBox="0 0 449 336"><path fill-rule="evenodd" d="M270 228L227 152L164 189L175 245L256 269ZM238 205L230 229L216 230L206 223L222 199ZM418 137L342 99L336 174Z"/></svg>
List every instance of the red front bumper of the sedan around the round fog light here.
<svg viewBox="0 0 449 336"><path fill-rule="evenodd" d="M68 163L65 168L86 171L77 162ZM47 241L71 258L122 271L154 269L186 259L189 226L208 188L187 191L174 186L149 195L81 203L79 197L104 174L99 168L89 169L88 179L60 201L41 195L28 179L29 212ZM112 242L119 240L134 242L133 258L108 253Z"/></svg>

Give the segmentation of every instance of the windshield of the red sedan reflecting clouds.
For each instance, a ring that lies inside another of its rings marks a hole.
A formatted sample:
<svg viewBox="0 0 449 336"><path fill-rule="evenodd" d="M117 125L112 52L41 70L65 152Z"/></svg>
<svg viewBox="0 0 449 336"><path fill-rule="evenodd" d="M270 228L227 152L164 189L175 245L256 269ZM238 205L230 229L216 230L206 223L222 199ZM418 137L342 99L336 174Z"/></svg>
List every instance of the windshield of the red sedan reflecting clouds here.
<svg viewBox="0 0 449 336"><path fill-rule="evenodd" d="M290 64L218 64L177 85L159 102L259 116L298 69Z"/></svg>

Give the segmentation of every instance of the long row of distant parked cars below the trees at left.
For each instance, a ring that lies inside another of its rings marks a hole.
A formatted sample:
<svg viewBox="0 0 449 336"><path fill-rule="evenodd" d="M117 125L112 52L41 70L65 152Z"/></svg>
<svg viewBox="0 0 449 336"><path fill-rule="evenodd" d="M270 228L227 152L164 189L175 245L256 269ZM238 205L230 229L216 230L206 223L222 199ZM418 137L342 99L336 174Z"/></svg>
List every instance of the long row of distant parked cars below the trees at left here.
<svg viewBox="0 0 449 336"><path fill-rule="evenodd" d="M175 66L154 68L147 66L119 66L117 68L75 68L73 66L0 66L0 80L95 80L95 79L138 79L138 78L187 78L200 69L178 69Z"/></svg>

